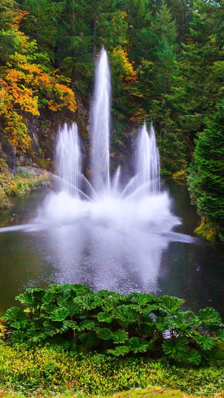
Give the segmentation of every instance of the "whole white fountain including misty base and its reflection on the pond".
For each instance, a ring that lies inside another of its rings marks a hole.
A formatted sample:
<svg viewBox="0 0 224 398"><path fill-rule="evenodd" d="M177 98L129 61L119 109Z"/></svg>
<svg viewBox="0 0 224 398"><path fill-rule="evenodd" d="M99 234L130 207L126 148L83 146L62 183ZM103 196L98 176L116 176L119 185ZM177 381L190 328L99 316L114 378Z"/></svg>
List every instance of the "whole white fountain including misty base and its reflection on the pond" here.
<svg viewBox="0 0 224 398"><path fill-rule="evenodd" d="M45 273L52 270L49 283L156 293L160 289L158 278L163 277L162 254L169 242L193 242L193 238L173 232L181 222L171 213L169 195L161 188L152 126L147 131L144 123L139 130L132 174L124 175L119 166L111 176L110 91L107 53L102 49L91 106L90 181L82 174L77 126L64 125L56 145L59 191L46 195L29 224L6 226L0 233L27 234L25 242L32 243L31 252L36 253L35 261L38 258L35 272L42 261L41 278L45 280ZM28 243L19 245L19 250L21 247L26 250ZM26 275L30 268L29 263Z"/></svg>

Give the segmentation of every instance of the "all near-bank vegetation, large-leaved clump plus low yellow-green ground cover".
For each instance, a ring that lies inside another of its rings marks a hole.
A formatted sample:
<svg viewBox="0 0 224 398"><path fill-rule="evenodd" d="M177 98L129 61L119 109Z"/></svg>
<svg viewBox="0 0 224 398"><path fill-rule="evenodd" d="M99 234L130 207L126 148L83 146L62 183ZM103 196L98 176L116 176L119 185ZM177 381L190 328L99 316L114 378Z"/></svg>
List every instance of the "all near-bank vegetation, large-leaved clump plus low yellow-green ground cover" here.
<svg viewBox="0 0 224 398"><path fill-rule="evenodd" d="M1 326L4 396L223 396L224 324L213 308L193 314L176 297L68 284L17 299L25 309L7 310Z"/></svg>

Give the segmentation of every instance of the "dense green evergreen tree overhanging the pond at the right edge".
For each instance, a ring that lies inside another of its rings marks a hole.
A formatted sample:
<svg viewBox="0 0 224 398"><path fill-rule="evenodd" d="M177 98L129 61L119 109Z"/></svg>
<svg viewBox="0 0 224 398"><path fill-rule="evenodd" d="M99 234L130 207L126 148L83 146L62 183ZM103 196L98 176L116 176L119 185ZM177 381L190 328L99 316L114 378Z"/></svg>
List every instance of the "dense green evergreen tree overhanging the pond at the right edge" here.
<svg viewBox="0 0 224 398"><path fill-rule="evenodd" d="M189 190L199 214L217 226L218 236L224 241L224 100L218 102L205 123L189 169Z"/></svg>

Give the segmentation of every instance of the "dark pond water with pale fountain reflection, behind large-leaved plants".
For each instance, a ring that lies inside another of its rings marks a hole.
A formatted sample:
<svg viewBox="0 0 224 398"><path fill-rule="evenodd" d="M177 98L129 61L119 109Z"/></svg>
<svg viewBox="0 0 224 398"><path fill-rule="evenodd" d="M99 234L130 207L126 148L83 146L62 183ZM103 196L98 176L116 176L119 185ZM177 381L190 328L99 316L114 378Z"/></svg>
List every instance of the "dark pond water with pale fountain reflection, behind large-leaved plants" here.
<svg viewBox="0 0 224 398"><path fill-rule="evenodd" d="M199 224L185 185L169 181L175 232L194 236ZM27 223L46 193L14 198L0 226ZM0 313L27 287L84 283L94 290L147 291L186 300L186 308L213 306L224 316L224 248L199 238L170 241L145 231L122 232L82 219L47 230L0 232Z"/></svg>

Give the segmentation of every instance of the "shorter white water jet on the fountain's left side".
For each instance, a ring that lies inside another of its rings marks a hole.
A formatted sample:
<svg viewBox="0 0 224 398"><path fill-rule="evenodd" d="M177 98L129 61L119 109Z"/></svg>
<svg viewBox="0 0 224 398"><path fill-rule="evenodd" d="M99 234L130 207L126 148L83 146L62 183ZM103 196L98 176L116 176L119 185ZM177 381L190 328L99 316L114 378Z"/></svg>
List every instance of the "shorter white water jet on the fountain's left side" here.
<svg viewBox="0 0 224 398"><path fill-rule="evenodd" d="M62 189L71 196L78 197L81 168L80 145L76 123L71 127L65 123L59 132L56 146L58 175L62 178Z"/></svg>

